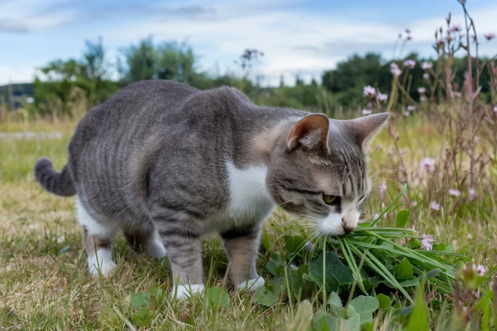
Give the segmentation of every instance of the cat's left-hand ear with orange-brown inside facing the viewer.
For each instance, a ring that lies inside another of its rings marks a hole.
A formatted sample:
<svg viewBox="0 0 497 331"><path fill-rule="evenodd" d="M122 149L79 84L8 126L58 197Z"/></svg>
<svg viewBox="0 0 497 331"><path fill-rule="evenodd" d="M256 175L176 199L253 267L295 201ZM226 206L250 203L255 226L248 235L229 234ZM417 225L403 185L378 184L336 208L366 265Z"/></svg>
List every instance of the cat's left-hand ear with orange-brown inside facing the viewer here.
<svg viewBox="0 0 497 331"><path fill-rule="evenodd" d="M329 131L330 120L326 115L308 115L295 123L288 133L287 149L290 151L301 145L306 149L324 148L325 151L330 151L328 146Z"/></svg>

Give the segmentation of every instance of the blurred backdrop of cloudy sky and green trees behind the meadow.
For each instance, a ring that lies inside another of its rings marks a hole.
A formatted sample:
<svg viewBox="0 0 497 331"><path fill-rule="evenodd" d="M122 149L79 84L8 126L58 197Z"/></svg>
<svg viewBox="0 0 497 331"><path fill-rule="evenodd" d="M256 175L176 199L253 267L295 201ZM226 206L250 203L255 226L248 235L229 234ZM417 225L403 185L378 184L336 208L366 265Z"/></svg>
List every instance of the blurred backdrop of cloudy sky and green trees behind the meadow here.
<svg viewBox="0 0 497 331"><path fill-rule="evenodd" d="M72 116L126 84L162 78L334 115L360 108L365 85L388 93L392 61L436 59L435 31L448 12L464 28L460 8L456 0L2 0L0 105L3 114ZM478 56L493 56L497 43L485 34L496 30L497 3L467 8ZM456 83L467 66L460 57ZM417 100L423 70L411 73Z"/></svg>

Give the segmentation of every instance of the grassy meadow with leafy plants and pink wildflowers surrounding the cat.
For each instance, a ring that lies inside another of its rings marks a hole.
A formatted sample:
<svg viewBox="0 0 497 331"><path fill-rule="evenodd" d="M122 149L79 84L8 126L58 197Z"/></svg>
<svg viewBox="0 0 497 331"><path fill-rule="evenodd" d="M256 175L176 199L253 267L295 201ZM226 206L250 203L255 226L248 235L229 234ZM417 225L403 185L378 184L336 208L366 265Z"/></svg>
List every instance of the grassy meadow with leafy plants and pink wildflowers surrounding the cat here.
<svg viewBox="0 0 497 331"><path fill-rule="evenodd" d="M207 289L185 301L168 296L167 259L134 252L122 238L113 250L117 271L89 275L75 199L44 192L33 165L46 156L61 169L78 119L118 83L74 75L37 81L47 95L35 104L0 107L0 330L496 330L496 58L474 56L482 41L471 37L475 22L459 2L464 27L445 19L434 60L402 51L381 65L376 59L389 83L382 78L380 89L380 76L361 76L366 83L350 93L358 99L345 107L337 100L350 91L336 92L325 79L261 89L247 76L195 76L205 88L235 85L260 105L338 119L392 115L370 149L373 190L360 226L328 238L277 208L257 260L266 285L255 293L229 288L216 236L203 242ZM398 48L410 38L405 31ZM105 93L85 94L82 86Z"/></svg>

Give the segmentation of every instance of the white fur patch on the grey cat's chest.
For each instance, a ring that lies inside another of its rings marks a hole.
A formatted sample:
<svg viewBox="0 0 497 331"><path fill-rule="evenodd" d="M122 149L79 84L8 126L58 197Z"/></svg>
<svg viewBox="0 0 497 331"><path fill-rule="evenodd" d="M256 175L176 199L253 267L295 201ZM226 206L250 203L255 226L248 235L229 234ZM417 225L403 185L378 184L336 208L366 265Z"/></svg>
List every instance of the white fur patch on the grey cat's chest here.
<svg viewBox="0 0 497 331"><path fill-rule="evenodd" d="M263 165L238 169L226 163L228 172L228 207L210 220L209 230L226 230L235 225L261 221L275 208L266 188L267 167Z"/></svg>

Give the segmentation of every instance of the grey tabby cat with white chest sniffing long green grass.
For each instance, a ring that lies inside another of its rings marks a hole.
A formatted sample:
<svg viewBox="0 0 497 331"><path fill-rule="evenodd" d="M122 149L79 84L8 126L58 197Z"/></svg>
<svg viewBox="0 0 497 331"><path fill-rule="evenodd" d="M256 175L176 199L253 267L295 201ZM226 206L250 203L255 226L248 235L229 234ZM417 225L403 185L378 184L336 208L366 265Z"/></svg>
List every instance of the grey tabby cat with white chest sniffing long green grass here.
<svg viewBox="0 0 497 331"><path fill-rule="evenodd" d="M357 226L371 191L368 149L388 118L332 120L259 107L231 87L145 80L88 111L61 172L42 157L34 173L48 192L77 196L92 274L114 270L122 232L137 250L167 255L171 296L184 299L204 288L201 238L216 232L234 288L254 291L264 284L261 226L277 206L322 234Z"/></svg>

